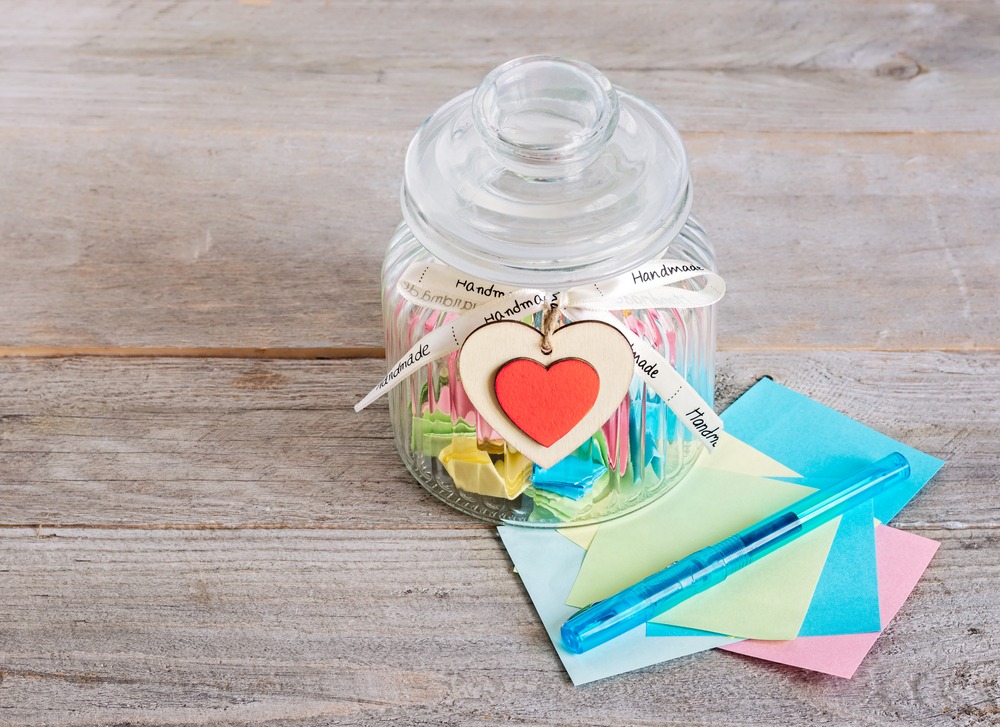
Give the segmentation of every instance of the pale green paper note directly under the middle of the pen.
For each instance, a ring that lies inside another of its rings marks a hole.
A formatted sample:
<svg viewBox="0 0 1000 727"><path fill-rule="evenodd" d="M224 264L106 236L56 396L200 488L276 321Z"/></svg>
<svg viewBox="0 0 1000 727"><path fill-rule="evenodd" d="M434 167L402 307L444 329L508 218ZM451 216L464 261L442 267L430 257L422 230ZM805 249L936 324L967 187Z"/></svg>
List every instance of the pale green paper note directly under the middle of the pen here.
<svg viewBox="0 0 1000 727"><path fill-rule="evenodd" d="M582 608L607 598L811 492L699 463L672 492L600 526L567 604ZM751 639L795 638L838 522L802 536L654 621Z"/></svg>

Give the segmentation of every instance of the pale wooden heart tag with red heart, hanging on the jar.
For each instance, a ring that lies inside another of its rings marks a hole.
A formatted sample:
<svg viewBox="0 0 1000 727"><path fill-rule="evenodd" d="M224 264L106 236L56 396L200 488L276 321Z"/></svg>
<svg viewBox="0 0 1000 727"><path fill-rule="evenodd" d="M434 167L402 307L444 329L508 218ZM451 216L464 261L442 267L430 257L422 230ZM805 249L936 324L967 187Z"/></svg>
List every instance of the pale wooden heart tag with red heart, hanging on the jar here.
<svg viewBox="0 0 1000 727"><path fill-rule="evenodd" d="M465 340L458 370L469 401L516 450L551 467L594 435L628 393L634 359L606 323L542 334L514 321L490 323Z"/></svg>

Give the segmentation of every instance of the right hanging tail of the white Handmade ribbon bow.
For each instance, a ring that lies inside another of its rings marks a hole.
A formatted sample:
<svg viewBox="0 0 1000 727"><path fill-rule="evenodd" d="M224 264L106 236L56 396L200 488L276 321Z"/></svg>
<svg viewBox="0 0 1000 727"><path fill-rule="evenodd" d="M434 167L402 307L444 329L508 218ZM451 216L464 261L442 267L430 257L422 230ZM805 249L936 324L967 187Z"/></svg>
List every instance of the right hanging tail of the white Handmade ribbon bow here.
<svg viewBox="0 0 1000 727"><path fill-rule="evenodd" d="M715 452L722 434L722 419L701 398L694 387L660 355L659 351L610 314L580 311L574 318L600 321L621 331L632 346L632 354L636 359L636 374L663 399L681 423L695 436L696 441L704 444L709 453ZM644 360L646 366L640 367L639 360Z"/></svg>

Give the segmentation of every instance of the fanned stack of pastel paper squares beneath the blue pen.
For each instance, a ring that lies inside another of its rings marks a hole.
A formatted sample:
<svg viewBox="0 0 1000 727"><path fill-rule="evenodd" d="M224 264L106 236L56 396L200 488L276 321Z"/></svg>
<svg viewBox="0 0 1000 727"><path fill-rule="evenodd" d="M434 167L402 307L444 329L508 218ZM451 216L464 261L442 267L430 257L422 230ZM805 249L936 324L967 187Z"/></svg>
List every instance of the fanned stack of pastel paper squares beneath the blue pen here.
<svg viewBox="0 0 1000 727"><path fill-rule="evenodd" d="M599 526L502 526L517 571L576 684L712 648L850 677L938 544L888 522L943 464L770 379L723 414L718 451L671 492ZM893 451L910 478L645 626L580 655L559 628L679 558Z"/></svg>

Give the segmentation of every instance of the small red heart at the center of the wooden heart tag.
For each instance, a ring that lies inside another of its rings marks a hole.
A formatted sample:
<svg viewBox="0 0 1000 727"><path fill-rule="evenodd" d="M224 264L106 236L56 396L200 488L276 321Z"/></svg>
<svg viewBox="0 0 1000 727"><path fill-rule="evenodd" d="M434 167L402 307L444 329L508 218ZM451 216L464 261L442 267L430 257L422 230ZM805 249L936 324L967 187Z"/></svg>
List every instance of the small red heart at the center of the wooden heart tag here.
<svg viewBox="0 0 1000 727"><path fill-rule="evenodd" d="M548 368L528 358L504 364L493 389L504 414L543 447L551 447L583 419L597 401L597 370L578 358Z"/></svg>

